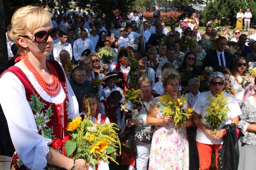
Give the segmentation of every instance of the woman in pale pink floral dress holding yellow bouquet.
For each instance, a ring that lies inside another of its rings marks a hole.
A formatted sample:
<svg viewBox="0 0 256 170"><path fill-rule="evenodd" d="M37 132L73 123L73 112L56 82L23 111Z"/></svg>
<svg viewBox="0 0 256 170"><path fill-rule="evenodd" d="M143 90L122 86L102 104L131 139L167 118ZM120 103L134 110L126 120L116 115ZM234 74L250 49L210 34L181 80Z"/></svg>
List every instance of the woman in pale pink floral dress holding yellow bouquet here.
<svg viewBox="0 0 256 170"><path fill-rule="evenodd" d="M180 77L176 71L163 70L163 86L166 92L175 96L179 92ZM182 126L174 125L172 116L163 116L163 104L156 104L155 98L150 105L147 124L156 125L153 134L149 170L189 169L189 148L186 128L193 124L192 116ZM190 108L187 103L187 109Z"/></svg>

